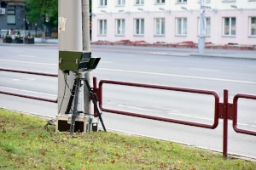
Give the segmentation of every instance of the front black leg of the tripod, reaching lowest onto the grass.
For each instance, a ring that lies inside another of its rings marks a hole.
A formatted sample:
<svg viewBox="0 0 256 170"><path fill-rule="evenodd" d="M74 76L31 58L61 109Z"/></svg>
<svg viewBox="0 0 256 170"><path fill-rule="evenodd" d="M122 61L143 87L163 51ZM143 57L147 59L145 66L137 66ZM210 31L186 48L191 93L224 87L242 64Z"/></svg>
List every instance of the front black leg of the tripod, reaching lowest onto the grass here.
<svg viewBox="0 0 256 170"><path fill-rule="evenodd" d="M75 88L75 94L74 94L74 103L73 103L73 114L72 114L72 120L70 125L70 134L73 134L74 126L76 122L76 117L78 116L78 103L79 103L79 88L80 88L80 79L76 78L76 88Z"/></svg>

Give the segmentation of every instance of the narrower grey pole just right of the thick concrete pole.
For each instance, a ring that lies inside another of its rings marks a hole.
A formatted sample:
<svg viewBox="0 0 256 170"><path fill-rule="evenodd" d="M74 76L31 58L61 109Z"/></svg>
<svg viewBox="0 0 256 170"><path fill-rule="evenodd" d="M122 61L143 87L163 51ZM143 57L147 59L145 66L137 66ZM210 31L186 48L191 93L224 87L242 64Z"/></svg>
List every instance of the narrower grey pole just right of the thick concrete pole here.
<svg viewBox="0 0 256 170"><path fill-rule="evenodd" d="M90 52L90 14L89 0L82 0L82 31L83 31L83 51ZM85 72L85 79L90 84L90 72ZM84 82L85 84L85 82ZM90 94L87 88L84 88L84 112L91 114Z"/></svg>

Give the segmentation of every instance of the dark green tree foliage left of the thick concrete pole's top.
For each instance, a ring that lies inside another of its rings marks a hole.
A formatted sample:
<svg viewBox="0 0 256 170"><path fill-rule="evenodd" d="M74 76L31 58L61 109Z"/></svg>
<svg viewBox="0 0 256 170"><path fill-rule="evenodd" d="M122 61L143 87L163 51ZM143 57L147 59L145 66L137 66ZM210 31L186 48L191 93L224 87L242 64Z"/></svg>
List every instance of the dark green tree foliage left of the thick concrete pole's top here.
<svg viewBox="0 0 256 170"><path fill-rule="evenodd" d="M25 0L25 3L27 20L32 23L42 20L46 26L57 26L58 0Z"/></svg>

